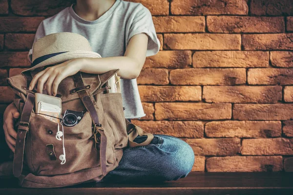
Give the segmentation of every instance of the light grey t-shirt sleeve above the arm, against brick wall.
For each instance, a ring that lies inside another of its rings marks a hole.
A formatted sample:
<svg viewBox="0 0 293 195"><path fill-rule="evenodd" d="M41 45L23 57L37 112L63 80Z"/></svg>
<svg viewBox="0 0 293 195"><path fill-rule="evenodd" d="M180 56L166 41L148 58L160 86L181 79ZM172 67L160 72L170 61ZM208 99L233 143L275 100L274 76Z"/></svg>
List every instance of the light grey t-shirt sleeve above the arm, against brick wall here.
<svg viewBox="0 0 293 195"><path fill-rule="evenodd" d="M150 11L142 4L139 5L140 6L138 6L130 18L131 24L128 32L126 46L128 45L131 37L134 35L146 33L146 35L148 35L146 57L153 56L160 50L160 41L157 38Z"/></svg>

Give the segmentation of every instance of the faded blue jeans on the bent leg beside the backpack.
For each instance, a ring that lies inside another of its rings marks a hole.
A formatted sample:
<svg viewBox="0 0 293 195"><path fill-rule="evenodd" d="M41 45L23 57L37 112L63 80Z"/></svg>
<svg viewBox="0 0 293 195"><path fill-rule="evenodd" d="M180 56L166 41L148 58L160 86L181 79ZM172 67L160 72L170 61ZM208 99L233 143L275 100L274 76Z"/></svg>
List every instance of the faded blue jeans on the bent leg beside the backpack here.
<svg viewBox="0 0 293 195"><path fill-rule="evenodd" d="M141 143L146 136L136 137ZM101 181L105 183L158 182L186 177L194 164L194 152L187 142L172 136L154 134L147 146L123 149L118 167Z"/></svg>

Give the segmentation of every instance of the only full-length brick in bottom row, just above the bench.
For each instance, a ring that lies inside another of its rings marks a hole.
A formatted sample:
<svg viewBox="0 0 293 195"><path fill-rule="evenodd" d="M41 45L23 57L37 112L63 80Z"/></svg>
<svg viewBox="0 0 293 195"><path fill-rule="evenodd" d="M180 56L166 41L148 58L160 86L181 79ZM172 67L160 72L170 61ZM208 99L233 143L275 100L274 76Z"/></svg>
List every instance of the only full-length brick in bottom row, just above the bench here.
<svg viewBox="0 0 293 195"><path fill-rule="evenodd" d="M208 172L282 171L282 156L224 156L207 159Z"/></svg>

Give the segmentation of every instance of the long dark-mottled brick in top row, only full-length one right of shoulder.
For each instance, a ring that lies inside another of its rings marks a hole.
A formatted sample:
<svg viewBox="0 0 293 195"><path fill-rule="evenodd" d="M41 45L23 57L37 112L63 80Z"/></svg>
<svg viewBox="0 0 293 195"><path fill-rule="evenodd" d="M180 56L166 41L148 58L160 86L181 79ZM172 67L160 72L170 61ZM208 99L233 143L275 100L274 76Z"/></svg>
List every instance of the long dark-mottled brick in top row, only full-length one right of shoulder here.
<svg viewBox="0 0 293 195"><path fill-rule="evenodd" d="M245 0L172 0L173 15L247 15Z"/></svg>

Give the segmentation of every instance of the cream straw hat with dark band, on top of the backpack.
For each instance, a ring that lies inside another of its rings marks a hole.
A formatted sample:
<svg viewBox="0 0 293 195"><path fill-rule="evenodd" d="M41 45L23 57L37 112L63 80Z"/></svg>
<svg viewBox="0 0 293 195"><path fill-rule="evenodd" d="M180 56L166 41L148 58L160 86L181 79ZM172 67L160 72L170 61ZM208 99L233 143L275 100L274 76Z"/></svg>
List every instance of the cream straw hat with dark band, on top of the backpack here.
<svg viewBox="0 0 293 195"><path fill-rule="evenodd" d="M87 39L76 33L53 33L38 39L32 48L32 68L59 64L75 58L101 58L93 52Z"/></svg>

